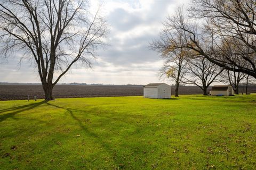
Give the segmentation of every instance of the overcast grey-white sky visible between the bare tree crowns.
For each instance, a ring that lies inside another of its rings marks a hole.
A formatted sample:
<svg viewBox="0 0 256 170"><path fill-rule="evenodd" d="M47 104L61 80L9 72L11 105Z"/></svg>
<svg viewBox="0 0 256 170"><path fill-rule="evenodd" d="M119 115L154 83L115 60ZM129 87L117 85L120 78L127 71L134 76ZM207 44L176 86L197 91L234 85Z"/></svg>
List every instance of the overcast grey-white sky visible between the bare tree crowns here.
<svg viewBox="0 0 256 170"><path fill-rule="evenodd" d="M149 49L157 39L162 22L179 4L187 0L105 0L101 1L101 15L108 21L110 33L107 46L97 51L93 68L73 66L59 83L148 84L159 80L158 71L163 65L159 54ZM91 0L91 11L99 1ZM14 54L0 63L0 82L37 83L38 72L33 63Z"/></svg>

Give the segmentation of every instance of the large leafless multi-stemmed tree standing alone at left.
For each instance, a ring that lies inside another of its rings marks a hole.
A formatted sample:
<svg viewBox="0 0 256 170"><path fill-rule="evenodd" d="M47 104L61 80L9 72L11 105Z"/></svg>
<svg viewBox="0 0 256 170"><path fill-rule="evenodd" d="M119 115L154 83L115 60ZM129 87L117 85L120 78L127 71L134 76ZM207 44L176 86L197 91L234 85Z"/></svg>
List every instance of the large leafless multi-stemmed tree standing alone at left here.
<svg viewBox="0 0 256 170"><path fill-rule="evenodd" d="M23 53L34 61L45 92L52 100L55 84L75 63L91 66L104 45L106 21L89 12L83 0L0 0L0 40L4 56Z"/></svg>

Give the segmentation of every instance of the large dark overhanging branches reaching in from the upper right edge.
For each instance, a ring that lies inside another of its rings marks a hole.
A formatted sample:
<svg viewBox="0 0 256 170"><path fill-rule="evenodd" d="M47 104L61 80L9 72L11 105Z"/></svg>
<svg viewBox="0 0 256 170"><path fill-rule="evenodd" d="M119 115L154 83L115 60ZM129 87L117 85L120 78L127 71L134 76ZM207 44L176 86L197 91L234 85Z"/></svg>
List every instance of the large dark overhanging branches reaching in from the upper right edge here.
<svg viewBox="0 0 256 170"><path fill-rule="evenodd" d="M181 34L186 43L172 43L169 47L188 48L195 55L203 56L226 70L256 78L255 10L256 4L252 0L195 0L190 8L191 15L186 17L179 12L178 17L172 16L174 19L170 25L170 42L175 41L173 35ZM246 50L225 55L226 49L222 44L228 44L230 39L236 48L249 47L250 55Z"/></svg>

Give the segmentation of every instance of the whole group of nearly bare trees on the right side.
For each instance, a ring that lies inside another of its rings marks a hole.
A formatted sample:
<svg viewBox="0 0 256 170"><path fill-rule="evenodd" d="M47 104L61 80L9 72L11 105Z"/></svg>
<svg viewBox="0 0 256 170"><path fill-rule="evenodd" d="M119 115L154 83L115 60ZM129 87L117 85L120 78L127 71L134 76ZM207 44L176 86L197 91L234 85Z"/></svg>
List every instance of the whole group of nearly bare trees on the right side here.
<svg viewBox="0 0 256 170"><path fill-rule="evenodd" d="M150 48L161 54L161 78L179 85L194 84L207 95L214 82L230 84L238 94L241 83L256 80L256 3L254 0L194 0L167 17Z"/></svg>

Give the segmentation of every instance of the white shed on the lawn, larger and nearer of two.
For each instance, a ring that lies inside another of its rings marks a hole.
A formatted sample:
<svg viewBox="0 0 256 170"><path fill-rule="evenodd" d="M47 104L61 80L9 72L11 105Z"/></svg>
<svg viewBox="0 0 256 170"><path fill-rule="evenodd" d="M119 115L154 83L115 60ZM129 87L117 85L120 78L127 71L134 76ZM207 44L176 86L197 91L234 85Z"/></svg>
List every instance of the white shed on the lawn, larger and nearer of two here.
<svg viewBox="0 0 256 170"><path fill-rule="evenodd" d="M147 98L171 98L171 86L165 83L150 83L143 87L143 95Z"/></svg>

